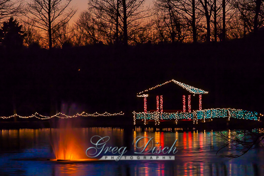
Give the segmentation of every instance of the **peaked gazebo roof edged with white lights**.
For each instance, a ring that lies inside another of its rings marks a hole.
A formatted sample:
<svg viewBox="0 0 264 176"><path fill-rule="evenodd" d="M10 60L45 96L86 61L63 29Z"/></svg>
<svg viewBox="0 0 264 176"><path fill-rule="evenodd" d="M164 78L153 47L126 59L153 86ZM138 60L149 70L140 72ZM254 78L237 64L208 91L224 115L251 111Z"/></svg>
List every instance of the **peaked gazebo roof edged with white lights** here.
<svg viewBox="0 0 264 176"><path fill-rule="evenodd" d="M165 84L167 84L167 83L170 83L170 82L174 82L174 83L176 83L176 84L179 85L180 87L186 89L187 91L189 91L190 93L193 93L193 94L203 94L203 93L208 93L208 91L205 91L205 90L202 90L202 89L199 89L199 88L195 88L195 87L193 87L193 86L189 86L189 85L184 84L184 83L180 83L180 82L178 82L178 81L176 81L176 80L173 79L173 80L171 80L171 81L167 81L167 82L165 82L165 83L163 83L163 84L157 85L157 86L155 86L155 87L153 87L153 88L149 88L149 89L146 89L146 90L144 90L144 91L141 91L141 92L137 93L137 96L145 96L143 93L146 93L146 92L149 91L149 90L152 90L152 89L154 89L154 88L157 88L157 87L163 86L163 85L165 85Z"/></svg>

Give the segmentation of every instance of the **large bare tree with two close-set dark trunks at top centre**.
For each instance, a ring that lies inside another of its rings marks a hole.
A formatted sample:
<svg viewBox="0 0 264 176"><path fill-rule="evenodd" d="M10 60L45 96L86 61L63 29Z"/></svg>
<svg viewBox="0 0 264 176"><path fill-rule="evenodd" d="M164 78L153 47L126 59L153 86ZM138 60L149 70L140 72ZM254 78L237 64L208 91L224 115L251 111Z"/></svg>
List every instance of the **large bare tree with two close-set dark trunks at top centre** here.
<svg viewBox="0 0 264 176"><path fill-rule="evenodd" d="M104 43L127 45L146 28L150 17L145 0L89 0L89 15Z"/></svg>

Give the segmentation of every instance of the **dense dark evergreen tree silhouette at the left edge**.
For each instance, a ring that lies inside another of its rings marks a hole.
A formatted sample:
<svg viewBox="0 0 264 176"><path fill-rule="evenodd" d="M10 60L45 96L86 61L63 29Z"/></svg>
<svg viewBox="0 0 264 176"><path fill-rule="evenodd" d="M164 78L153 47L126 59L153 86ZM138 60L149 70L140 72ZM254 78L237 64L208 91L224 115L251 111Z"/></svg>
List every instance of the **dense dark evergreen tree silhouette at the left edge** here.
<svg viewBox="0 0 264 176"><path fill-rule="evenodd" d="M10 17L7 22L3 22L0 29L0 44L6 48L22 47L25 36L22 25L19 25L19 22L14 20L13 17Z"/></svg>

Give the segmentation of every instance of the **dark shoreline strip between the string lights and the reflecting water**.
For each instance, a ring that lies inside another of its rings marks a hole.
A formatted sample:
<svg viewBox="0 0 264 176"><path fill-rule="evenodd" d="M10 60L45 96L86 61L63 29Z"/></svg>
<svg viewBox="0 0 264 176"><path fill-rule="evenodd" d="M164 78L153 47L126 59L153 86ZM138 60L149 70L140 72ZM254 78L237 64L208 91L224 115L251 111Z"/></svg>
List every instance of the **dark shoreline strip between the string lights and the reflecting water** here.
<svg viewBox="0 0 264 176"><path fill-rule="evenodd" d="M124 119L124 118L123 118ZM32 121L0 121L0 130L18 130L18 129L43 129L43 128L60 128L61 125L72 128L119 128L119 129L141 129L142 132L175 132L179 129L182 131L222 131L222 130L249 130L264 128L264 121L242 120L242 119L214 119L213 121L198 121L198 124L193 124L193 121L161 121L159 125L154 125L149 122L144 125L144 121L136 121L136 125L128 120L120 118L106 119L56 119L56 120L32 120ZM64 127L63 126L63 127Z"/></svg>

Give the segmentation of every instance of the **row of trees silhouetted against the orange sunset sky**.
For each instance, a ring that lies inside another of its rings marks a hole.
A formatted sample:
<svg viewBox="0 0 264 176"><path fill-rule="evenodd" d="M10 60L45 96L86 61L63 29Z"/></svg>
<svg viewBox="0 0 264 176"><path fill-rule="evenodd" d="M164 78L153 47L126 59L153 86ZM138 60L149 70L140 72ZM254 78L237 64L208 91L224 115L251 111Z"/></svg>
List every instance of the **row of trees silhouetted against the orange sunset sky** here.
<svg viewBox="0 0 264 176"><path fill-rule="evenodd" d="M220 42L256 34L264 25L264 0L154 0L153 5L146 0L88 0L87 10L69 24L77 11L71 4L0 0L0 44L52 48ZM11 44L15 39L20 42Z"/></svg>

